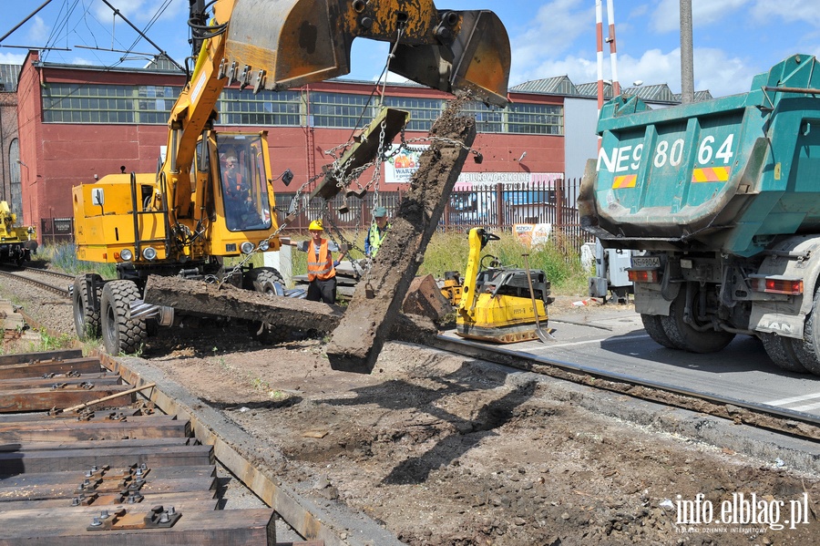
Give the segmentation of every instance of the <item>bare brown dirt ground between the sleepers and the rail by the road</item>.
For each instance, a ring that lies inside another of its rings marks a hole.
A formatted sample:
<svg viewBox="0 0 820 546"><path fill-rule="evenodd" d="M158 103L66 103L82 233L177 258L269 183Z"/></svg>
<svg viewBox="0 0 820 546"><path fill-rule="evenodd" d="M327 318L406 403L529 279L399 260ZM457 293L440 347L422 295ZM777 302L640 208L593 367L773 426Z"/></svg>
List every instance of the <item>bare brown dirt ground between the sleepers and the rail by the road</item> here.
<svg viewBox="0 0 820 546"><path fill-rule="evenodd" d="M69 305L14 290L27 313L70 331ZM595 313L594 302L572 304L580 299L560 298L553 315ZM535 376L417 345L388 342L372 375L336 372L326 343L268 347L244 328L210 325L164 330L142 357L280 450L282 480L368 514L407 544L804 545L820 536L817 476L602 417ZM720 522L722 503L743 506L741 494L747 505L756 495L757 522L734 509L735 522ZM701 523L678 524L684 505ZM785 523L797 507L807 522Z"/></svg>

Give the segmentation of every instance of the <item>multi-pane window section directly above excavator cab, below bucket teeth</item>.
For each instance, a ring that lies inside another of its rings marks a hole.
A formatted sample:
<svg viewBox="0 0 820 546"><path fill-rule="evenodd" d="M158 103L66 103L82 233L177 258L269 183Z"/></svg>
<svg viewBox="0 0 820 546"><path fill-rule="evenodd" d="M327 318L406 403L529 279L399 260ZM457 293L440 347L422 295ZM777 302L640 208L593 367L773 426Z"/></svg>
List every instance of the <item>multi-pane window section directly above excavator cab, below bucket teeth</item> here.
<svg viewBox="0 0 820 546"><path fill-rule="evenodd" d="M298 91L260 91L225 89L217 104L220 125L264 125L299 127L302 125L302 94Z"/></svg>

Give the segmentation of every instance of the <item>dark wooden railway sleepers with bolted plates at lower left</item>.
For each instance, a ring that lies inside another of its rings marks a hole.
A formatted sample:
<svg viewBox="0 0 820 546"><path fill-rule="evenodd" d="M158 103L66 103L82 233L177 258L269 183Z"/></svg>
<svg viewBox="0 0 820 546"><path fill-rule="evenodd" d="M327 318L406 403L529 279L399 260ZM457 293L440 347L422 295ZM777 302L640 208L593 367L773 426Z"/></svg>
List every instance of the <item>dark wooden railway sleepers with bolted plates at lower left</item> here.
<svg viewBox="0 0 820 546"><path fill-rule="evenodd" d="M118 325L133 289L108 286ZM158 388L138 380L139 397L105 364L80 350L0 356L0 545L337 543L277 542L271 508L218 510L214 446L159 411Z"/></svg>

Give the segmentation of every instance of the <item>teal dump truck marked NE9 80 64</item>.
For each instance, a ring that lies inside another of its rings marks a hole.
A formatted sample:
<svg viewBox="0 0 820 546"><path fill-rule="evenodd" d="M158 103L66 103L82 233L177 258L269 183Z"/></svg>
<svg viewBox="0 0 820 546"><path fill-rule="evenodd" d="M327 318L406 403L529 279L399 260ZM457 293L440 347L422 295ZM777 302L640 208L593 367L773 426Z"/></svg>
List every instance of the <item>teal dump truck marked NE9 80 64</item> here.
<svg viewBox="0 0 820 546"><path fill-rule="evenodd" d="M777 366L820 375L820 62L795 55L741 95L600 112L579 208L633 251L651 338L695 353L754 335Z"/></svg>

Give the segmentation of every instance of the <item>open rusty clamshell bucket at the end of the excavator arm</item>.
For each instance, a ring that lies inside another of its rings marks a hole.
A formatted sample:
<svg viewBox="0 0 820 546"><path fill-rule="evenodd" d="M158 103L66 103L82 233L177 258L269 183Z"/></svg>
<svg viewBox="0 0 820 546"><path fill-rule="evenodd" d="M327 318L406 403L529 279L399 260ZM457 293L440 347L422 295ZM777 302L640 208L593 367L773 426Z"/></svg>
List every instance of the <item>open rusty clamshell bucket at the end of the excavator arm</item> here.
<svg viewBox="0 0 820 546"><path fill-rule="evenodd" d="M236 0L221 76L255 91L343 76L360 36L398 41L396 74L507 105L510 50L500 19L487 10L437 10L432 0Z"/></svg>

